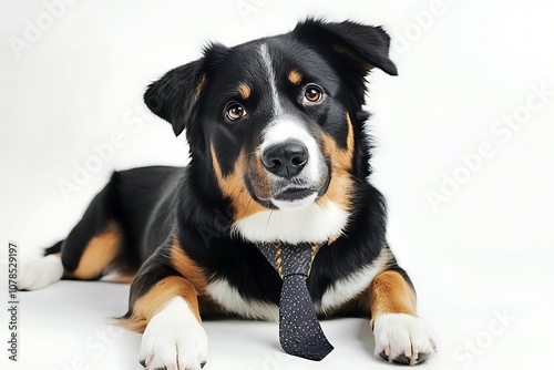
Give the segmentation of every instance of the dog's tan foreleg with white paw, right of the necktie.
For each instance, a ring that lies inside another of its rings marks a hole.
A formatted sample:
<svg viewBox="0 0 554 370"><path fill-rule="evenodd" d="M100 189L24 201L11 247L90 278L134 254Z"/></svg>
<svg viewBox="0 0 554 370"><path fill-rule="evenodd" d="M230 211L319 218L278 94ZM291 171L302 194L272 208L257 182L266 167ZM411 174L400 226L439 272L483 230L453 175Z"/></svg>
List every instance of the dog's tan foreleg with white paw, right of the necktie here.
<svg viewBox="0 0 554 370"><path fill-rule="evenodd" d="M384 270L373 278L370 309L376 356L417 364L434 352L434 341L416 314L416 291L402 269Z"/></svg>

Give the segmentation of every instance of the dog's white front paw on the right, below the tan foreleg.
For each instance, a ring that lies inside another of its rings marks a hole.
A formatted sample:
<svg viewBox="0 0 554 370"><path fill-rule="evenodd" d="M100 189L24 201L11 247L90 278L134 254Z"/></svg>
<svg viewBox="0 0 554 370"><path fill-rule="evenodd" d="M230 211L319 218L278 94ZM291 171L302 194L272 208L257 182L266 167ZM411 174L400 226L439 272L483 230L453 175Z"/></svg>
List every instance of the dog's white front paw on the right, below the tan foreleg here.
<svg viewBox="0 0 554 370"><path fill-rule="evenodd" d="M435 351L435 341L418 317L407 314L379 315L375 319L376 356L386 360L418 364Z"/></svg>

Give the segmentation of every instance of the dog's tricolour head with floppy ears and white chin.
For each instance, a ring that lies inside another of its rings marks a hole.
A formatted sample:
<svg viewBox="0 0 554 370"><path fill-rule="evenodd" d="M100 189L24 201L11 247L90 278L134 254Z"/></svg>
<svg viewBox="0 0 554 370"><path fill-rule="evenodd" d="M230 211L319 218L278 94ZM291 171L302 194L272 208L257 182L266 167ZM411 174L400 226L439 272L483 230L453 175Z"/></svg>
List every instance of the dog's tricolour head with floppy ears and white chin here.
<svg viewBox="0 0 554 370"><path fill-rule="evenodd" d="M253 241L338 236L365 181L365 78L397 74L381 28L307 20L294 31L204 56L167 72L148 107L186 130L193 163L209 167Z"/></svg>

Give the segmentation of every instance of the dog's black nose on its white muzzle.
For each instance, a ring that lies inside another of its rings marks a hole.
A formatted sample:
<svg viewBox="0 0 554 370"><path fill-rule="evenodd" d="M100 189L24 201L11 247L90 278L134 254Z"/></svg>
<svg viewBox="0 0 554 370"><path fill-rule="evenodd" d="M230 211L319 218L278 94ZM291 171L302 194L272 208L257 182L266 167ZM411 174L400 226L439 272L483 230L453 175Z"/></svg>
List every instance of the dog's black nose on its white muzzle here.
<svg viewBox="0 0 554 370"><path fill-rule="evenodd" d="M266 148L261 162L270 173L291 178L308 163L308 148L297 140L287 140Z"/></svg>

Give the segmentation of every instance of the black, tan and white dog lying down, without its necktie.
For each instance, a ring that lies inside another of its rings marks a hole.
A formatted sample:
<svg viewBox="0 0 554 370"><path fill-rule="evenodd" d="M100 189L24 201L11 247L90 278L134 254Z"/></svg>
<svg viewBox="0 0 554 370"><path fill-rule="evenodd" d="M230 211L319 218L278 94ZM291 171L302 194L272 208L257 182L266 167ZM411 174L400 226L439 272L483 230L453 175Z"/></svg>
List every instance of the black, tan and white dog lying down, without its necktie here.
<svg viewBox="0 0 554 370"><path fill-rule="evenodd" d="M116 273L132 281L121 323L143 332L140 362L199 369L202 318L278 320L283 281L255 245L317 243L307 279L317 315L368 317L377 356L425 360L434 340L368 179L366 76L397 75L389 43L380 27L310 18L281 35L207 45L144 94L186 132L189 164L115 172L19 288Z"/></svg>

